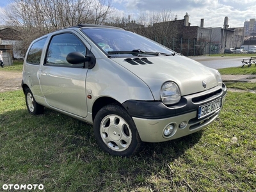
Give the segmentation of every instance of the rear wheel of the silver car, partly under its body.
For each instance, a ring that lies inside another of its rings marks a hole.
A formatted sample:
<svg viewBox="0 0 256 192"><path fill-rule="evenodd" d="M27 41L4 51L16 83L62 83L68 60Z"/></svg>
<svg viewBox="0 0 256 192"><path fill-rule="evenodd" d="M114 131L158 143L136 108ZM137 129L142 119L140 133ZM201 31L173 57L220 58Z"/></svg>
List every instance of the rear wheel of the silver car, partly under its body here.
<svg viewBox="0 0 256 192"><path fill-rule="evenodd" d="M25 99L26 99L26 106L28 108L28 112L31 115L40 115L44 113L44 106L38 104L33 96L33 93L29 88L25 91Z"/></svg>

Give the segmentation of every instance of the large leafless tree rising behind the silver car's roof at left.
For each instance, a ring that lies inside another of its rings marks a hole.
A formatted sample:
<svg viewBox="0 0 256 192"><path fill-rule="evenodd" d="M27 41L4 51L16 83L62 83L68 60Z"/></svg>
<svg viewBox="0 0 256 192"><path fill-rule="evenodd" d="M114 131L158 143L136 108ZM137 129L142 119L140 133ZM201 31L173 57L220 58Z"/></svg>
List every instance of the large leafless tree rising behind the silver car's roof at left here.
<svg viewBox="0 0 256 192"><path fill-rule="evenodd" d="M111 0L12 0L5 10L6 24L20 32L24 50L52 31L81 23L102 24L111 12Z"/></svg>

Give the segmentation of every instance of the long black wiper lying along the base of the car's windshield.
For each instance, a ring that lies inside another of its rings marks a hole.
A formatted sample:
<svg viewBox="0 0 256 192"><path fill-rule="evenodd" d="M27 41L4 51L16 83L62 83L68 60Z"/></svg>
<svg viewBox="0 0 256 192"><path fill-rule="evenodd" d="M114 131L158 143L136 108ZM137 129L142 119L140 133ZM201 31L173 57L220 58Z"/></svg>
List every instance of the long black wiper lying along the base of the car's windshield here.
<svg viewBox="0 0 256 192"><path fill-rule="evenodd" d="M154 56L174 56L175 53L164 53L164 52L150 52L150 51L141 51L140 49L134 49L132 51L108 51L108 54L132 54L134 56L145 56L145 55L154 55Z"/></svg>

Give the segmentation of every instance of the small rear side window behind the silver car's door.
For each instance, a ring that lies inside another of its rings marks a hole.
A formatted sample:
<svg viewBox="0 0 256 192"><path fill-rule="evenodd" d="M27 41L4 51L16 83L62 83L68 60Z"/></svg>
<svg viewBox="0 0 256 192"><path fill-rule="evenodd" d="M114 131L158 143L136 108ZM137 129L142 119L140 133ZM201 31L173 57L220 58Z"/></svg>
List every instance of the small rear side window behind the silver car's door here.
<svg viewBox="0 0 256 192"><path fill-rule="evenodd" d="M28 57L27 57L28 63L35 64L35 65L40 64L40 59L41 59L45 41L46 41L46 38L43 38L41 40L38 40L31 46L28 52Z"/></svg>

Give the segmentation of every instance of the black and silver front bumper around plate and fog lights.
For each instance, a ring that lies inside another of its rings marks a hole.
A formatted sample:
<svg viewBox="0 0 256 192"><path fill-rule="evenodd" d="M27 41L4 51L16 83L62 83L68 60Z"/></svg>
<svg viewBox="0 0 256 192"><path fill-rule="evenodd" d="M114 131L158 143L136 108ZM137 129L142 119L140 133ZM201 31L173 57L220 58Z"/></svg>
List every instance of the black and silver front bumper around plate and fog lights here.
<svg viewBox="0 0 256 192"><path fill-rule="evenodd" d="M221 88L219 86L204 93L182 97L181 102L176 106L168 107L162 102L134 100L124 102L123 106L132 116L142 141L162 142L192 134L211 124L220 115L226 94L227 88L223 84ZM204 118L197 118L198 106L220 98L220 109ZM186 122L185 127L179 126L182 122ZM166 137L164 136L164 128L169 124L174 125L174 131L170 136Z"/></svg>

